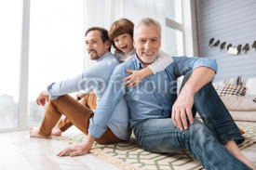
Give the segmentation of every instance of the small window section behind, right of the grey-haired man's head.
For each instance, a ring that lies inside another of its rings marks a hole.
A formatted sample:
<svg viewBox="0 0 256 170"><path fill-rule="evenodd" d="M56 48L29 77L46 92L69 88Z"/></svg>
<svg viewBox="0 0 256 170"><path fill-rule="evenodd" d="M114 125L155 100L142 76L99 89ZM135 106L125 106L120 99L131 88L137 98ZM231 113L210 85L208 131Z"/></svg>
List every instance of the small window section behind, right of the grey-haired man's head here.
<svg viewBox="0 0 256 170"><path fill-rule="evenodd" d="M166 23L167 53L184 55L181 0L166 0Z"/></svg>

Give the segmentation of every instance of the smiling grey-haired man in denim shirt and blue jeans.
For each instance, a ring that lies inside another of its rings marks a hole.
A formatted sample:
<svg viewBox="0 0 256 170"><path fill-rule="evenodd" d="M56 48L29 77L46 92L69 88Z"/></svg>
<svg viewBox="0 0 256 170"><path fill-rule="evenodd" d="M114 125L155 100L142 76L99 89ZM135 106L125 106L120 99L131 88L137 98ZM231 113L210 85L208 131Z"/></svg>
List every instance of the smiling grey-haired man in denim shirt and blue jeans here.
<svg viewBox="0 0 256 170"><path fill-rule="evenodd" d="M255 169L238 150L236 145L244 137L210 83L217 72L215 59L173 57L166 70L147 76L132 88L122 82L129 74L126 71L139 71L158 56L161 26L156 20L142 19L135 25L134 47L134 58L115 68L92 118L88 141L79 153L87 153L87 146L101 137L116 104L124 97L130 127L143 150L162 153L187 149L206 169ZM185 76L177 98L174 89L181 75ZM194 118L195 109L205 124Z"/></svg>

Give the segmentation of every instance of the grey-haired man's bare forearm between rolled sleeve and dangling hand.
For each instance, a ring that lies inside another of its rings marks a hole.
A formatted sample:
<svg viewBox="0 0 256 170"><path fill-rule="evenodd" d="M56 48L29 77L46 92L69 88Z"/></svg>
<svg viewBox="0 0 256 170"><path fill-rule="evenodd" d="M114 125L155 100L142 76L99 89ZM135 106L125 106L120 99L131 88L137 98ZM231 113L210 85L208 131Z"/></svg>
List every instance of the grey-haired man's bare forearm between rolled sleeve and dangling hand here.
<svg viewBox="0 0 256 170"><path fill-rule="evenodd" d="M214 70L208 67L198 67L192 72L182 90L195 94L204 85L207 85L213 79L214 75Z"/></svg>

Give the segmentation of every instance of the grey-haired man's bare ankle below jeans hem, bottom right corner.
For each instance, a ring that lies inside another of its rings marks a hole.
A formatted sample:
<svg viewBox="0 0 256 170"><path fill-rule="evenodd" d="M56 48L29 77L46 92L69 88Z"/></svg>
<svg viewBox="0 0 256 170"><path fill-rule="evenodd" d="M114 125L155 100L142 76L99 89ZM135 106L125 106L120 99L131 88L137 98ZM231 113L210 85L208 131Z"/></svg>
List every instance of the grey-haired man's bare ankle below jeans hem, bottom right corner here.
<svg viewBox="0 0 256 170"><path fill-rule="evenodd" d="M242 152L238 149L236 142L234 140L228 141L224 144L224 146L226 147L226 149L233 154L238 160L240 160L241 162L245 163L246 165L248 165L251 169L256 170L256 167L254 166L253 163L251 163L249 161L249 159L247 159Z"/></svg>

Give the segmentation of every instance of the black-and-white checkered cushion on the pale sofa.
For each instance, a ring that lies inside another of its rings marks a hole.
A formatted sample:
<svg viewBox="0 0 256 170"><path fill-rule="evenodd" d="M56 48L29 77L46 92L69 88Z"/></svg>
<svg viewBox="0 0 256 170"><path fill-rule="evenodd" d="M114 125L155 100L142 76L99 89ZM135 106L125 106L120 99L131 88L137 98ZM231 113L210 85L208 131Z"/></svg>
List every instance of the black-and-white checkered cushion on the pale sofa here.
<svg viewBox="0 0 256 170"><path fill-rule="evenodd" d="M247 87L243 87L242 85L231 85L231 84L213 85L213 86L220 97L244 96L246 94L246 89L247 89Z"/></svg>

